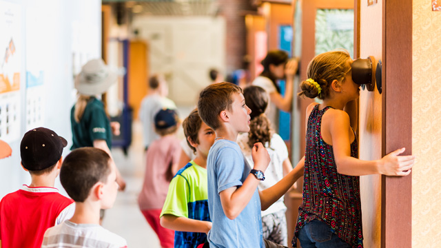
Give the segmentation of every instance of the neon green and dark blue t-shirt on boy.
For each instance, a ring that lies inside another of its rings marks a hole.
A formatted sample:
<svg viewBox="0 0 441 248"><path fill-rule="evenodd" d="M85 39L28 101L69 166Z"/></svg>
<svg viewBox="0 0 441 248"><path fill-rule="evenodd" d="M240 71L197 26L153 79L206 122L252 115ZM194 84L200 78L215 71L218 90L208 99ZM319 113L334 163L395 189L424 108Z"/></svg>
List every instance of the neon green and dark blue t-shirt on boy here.
<svg viewBox="0 0 441 248"><path fill-rule="evenodd" d="M190 161L176 173L168 189L161 217L171 214L194 220L211 221L208 211L207 169ZM175 231L174 247L197 247L207 234Z"/></svg>

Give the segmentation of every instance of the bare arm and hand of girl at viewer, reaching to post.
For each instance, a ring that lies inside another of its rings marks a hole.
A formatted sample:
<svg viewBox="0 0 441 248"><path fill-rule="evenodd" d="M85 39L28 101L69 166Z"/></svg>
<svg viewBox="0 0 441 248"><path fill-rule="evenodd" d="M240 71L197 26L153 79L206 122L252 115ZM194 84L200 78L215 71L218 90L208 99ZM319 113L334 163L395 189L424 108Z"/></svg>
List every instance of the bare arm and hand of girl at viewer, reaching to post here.
<svg viewBox="0 0 441 248"><path fill-rule="evenodd" d="M363 176L369 174L407 176L411 173L415 156L398 156L404 152L404 148L397 149L376 161L362 161L358 158L351 157L349 115L346 112L336 110L330 111L327 118L331 118L332 120L329 122L328 128L331 134L338 173L348 176Z"/></svg>

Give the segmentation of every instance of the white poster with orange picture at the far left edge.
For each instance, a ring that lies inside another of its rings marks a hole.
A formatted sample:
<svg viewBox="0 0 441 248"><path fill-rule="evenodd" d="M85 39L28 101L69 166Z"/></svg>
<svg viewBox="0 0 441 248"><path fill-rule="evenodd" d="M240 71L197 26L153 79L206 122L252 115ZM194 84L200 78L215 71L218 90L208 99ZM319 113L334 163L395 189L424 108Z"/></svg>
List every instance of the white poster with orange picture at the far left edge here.
<svg viewBox="0 0 441 248"><path fill-rule="evenodd" d="M0 139L20 138L21 8L0 1Z"/></svg>

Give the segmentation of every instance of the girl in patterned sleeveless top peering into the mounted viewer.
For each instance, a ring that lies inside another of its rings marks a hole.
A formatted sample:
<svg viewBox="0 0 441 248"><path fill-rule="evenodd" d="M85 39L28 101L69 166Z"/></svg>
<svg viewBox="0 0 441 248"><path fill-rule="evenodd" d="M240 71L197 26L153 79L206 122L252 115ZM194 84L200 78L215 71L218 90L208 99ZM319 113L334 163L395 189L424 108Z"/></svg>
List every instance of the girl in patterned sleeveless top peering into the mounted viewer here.
<svg viewBox="0 0 441 248"><path fill-rule="evenodd" d="M345 50L318 54L309 63L298 95L322 103L306 110L306 150L302 204L293 239L302 248L363 247L360 176L407 176L414 156L399 156L404 148L376 161L358 159L354 100L360 85L352 81L352 59ZM314 233L314 236L311 236Z"/></svg>

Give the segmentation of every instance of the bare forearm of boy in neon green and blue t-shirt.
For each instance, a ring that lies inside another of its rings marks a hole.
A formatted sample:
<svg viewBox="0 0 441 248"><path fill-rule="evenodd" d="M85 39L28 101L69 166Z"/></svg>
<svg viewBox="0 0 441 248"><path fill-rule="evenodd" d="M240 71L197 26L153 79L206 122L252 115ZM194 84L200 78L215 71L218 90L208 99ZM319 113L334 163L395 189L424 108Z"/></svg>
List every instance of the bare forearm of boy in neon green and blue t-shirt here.
<svg viewBox="0 0 441 248"><path fill-rule="evenodd" d="M161 217L161 226L175 231L200 232L205 234L212 229L212 223L209 221L193 220L172 214L164 214Z"/></svg>

